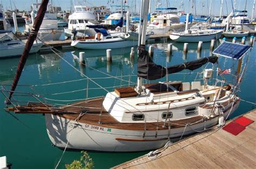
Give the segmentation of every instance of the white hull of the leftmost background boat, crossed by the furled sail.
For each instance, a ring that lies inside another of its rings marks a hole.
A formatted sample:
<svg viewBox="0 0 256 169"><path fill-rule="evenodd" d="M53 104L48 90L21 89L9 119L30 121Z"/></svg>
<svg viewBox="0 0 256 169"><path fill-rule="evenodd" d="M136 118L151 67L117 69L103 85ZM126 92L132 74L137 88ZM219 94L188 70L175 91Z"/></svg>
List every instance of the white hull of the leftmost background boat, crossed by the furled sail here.
<svg viewBox="0 0 256 169"><path fill-rule="evenodd" d="M29 53L36 53L43 46L43 43L34 43ZM22 55L24 45L10 46L8 48L0 48L0 58L17 57Z"/></svg>

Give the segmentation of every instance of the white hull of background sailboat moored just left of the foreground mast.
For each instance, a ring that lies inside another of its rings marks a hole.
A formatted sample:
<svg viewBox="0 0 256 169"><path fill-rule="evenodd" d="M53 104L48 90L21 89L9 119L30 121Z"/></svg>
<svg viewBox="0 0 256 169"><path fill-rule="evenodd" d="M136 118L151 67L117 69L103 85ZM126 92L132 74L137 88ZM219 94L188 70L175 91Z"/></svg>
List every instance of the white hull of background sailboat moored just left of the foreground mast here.
<svg viewBox="0 0 256 169"><path fill-rule="evenodd" d="M71 46L86 50L104 50L112 48L123 48L129 46L137 46L137 40L118 40L118 41L72 41Z"/></svg>

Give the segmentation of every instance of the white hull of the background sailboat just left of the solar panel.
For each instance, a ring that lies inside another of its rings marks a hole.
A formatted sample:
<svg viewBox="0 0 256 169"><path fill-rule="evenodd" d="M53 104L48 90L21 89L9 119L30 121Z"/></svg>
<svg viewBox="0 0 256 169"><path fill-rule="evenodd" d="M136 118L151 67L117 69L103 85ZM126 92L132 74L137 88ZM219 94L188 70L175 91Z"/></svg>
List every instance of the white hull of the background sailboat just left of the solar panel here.
<svg viewBox="0 0 256 169"><path fill-rule="evenodd" d="M211 41L212 39L219 39L223 31L219 31L218 33L212 34L185 34L185 35L178 35L178 34L170 34L170 39L177 42L183 43L198 43L199 41Z"/></svg>

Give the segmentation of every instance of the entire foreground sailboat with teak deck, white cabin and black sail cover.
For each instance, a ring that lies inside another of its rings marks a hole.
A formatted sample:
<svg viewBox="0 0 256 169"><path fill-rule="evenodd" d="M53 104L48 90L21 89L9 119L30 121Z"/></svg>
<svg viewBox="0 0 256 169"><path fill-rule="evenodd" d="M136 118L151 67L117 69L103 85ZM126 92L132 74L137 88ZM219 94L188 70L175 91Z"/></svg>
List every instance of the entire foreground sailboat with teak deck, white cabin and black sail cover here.
<svg viewBox="0 0 256 169"><path fill-rule="evenodd" d="M144 0L142 5L141 18L144 18L144 22L139 38L136 87L116 88L109 92L100 86L107 91L105 97L85 99L60 107L45 103L31 94L37 102L15 104L12 95L19 93L15 91L21 75L19 69L11 89L2 90L3 93L9 93L9 96L5 95L9 105L6 110L17 114L44 114L48 136L54 145L93 151L153 150L164 146L169 140L204 131L216 124L223 125L225 119L238 108L240 98L237 91L244 69L238 69L235 85L228 83L225 86L222 80L216 81L214 85L208 84L213 69L204 70L203 84L200 81L168 80L143 84L143 79L157 80L184 69L193 71L205 64L218 64L218 57L221 56L242 63L241 58L251 47L224 42L215 49L212 57L166 68L156 65L145 50L149 0ZM228 52L227 47L236 50ZM23 58L20 64L25 64ZM218 86L219 83L222 85Z"/></svg>

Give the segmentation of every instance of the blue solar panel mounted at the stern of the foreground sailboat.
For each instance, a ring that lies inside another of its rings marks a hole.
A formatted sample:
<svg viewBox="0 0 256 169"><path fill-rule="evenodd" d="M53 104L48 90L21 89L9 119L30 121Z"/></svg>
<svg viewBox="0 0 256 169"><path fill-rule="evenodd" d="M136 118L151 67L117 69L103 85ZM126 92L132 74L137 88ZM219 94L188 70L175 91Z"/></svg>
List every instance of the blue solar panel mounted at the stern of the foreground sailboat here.
<svg viewBox="0 0 256 169"><path fill-rule="evenodd" d="M239 60L251 47L224 41L212 53L222 57Z"/></svg>

